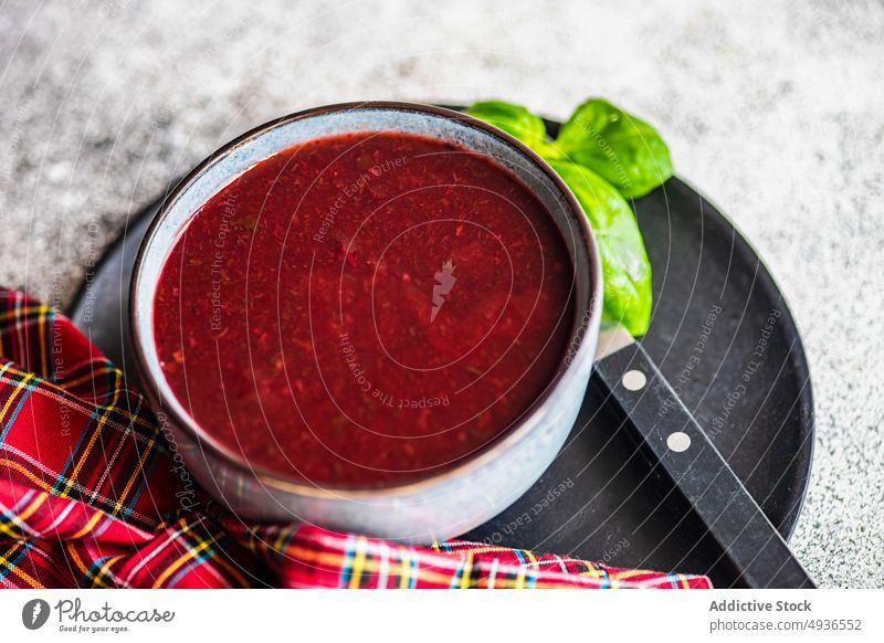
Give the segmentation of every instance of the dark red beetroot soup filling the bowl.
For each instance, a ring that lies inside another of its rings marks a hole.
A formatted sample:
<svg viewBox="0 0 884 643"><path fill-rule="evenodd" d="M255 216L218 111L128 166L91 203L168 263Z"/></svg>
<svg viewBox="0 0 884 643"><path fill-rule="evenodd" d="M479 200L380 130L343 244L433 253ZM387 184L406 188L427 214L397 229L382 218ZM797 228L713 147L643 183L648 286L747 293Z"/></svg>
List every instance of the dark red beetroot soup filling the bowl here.
<svg viewBox="0 0 884 643"><path fill-rule="evenodd" d="M377 486L439 473L519 420L565 355L572 282L549 212L502 166L347 134L204 203L154 326L178 400L249 464Z"/></svg>

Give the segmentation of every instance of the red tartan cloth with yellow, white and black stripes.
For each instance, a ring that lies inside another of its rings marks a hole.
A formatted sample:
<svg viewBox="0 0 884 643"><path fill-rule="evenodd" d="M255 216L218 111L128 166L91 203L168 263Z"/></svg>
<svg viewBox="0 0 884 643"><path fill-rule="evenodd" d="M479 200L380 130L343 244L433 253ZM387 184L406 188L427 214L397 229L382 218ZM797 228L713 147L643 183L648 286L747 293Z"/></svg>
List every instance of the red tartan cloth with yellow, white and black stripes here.
<svg viewBox="0 0 884 643"><path fill-rule="evenodd" d="M711 587L472 542L243 525L201 491L182 509L191 492L160 426L70 320L0 289L0 587Z"/></svg>

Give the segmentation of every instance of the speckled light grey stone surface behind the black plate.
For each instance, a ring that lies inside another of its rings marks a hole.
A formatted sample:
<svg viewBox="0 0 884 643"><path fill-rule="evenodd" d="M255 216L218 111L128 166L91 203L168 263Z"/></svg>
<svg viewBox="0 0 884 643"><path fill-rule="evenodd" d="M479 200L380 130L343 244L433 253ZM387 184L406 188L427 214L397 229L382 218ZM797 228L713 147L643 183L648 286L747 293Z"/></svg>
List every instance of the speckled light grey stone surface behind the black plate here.
<svg viewBox="0 0 884 643"><path fill-rule="evenodd" d="M0 8L0 283L64 306L170 178L285 113L606 96L779 281L818 413L794 548L822 586L884 587L884 6L185 4Z"/></svg>

